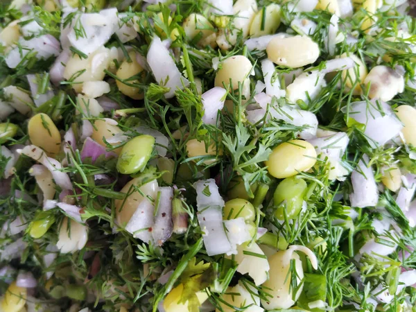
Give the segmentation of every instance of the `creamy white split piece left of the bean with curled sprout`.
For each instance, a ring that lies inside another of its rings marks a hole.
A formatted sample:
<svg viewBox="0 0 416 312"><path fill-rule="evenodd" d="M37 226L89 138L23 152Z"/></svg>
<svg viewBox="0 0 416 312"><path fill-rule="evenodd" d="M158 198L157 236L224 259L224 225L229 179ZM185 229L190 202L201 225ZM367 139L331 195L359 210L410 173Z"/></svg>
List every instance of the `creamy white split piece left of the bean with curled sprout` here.
<svg viewBox="0 0 416 312"><path fill-rule="evenodd" d="M268 260L255 255L244 254L244 252L253 252L254 254L264 255L263 250L259 248L257 243L239 245L237 250L238 253L234 256L234 261L239 263L237 272L243 275L247 273L257 286L263 284L268 279L270 270Z"/></svg>

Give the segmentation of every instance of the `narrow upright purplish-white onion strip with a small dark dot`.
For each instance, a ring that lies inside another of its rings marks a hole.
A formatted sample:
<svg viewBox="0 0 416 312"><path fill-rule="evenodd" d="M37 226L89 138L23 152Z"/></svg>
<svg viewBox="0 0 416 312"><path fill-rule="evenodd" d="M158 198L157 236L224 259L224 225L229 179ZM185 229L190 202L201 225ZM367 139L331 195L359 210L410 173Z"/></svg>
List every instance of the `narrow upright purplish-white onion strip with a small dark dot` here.
<svg viewBox="0 0 416 312"><path fill-rule="evenodd" d="M159 192L159 206L155 215L155 225L153 225L152 235L155 244L160 246L171 237L173 232L173 189L171 187L159 187Z"/></svg>

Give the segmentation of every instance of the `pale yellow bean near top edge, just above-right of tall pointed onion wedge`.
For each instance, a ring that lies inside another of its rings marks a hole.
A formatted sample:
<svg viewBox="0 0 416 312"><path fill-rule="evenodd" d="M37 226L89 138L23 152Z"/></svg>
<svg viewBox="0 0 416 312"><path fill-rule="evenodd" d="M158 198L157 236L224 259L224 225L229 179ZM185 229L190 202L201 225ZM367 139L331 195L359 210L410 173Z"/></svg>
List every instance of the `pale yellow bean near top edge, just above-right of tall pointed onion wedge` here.
<svg viewBox="0 0 416 312"><path fill-rule="evenodd" d="M198 46L205 47L209 45L212 48L216 47L215 28L205 16L192 13L184 20L182 27L189 40L193 40L197 35L200 36Z"/></svg>

